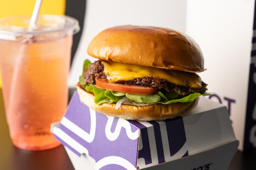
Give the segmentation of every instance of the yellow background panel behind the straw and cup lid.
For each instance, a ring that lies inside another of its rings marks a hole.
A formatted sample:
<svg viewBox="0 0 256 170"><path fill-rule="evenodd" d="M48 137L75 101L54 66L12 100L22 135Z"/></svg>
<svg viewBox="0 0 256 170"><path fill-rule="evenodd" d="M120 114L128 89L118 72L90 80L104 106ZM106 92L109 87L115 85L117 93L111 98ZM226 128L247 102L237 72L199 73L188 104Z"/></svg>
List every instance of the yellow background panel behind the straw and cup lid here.
<svg viewBox="0 0 256 170"><path fill-rule="evenodd" d="M0 18L32 15L36 0L0 0ZM66 0L43 0L39 14L63 15ZM2 87L0 74L0 88Z"/></svg>

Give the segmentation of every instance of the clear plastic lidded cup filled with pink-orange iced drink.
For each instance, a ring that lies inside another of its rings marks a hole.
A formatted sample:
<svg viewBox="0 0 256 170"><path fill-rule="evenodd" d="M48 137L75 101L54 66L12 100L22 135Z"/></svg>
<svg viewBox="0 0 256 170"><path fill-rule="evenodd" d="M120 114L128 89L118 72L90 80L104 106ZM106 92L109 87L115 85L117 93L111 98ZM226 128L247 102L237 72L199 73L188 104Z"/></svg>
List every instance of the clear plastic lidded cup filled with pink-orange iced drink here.
<svg viewBox="0 0 256 170"><path fill-rule="evenodd" d="M68 73L78 21L41 15L0 19L0 69L4 106L14 146L26 150L60 145L50 132L68 105Z"/></svg>

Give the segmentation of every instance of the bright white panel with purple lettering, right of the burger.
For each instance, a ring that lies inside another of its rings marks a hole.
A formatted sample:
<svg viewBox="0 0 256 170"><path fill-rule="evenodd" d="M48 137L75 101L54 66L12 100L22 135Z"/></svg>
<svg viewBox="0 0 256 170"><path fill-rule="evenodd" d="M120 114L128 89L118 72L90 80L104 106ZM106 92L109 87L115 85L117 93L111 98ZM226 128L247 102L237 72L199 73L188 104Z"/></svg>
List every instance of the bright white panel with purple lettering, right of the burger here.
<svg viewBox="0 0 256 170"><path fill-rule="evenodd" d="M186 33L204 58L202 80L230 109L242 149L252 46L254 0L187 0ZM217 97L213 97L219 101ZM235 102L230 102L228 99Z"/></svg>

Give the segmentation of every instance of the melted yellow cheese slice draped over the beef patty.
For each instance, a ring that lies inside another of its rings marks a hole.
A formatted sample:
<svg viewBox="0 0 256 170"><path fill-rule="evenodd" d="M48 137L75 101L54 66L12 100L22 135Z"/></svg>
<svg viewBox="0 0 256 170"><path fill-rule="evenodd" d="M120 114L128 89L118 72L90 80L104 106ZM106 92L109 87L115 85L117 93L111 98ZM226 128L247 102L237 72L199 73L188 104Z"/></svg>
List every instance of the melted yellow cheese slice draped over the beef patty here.
<svg viewBox="0 0 256 170"><path fill-rule="evenodd" d="M138 66L121 62L102 61L104 64L104 74L109 82L118 80L134 80L145 76L166 79L170 83L185 87L201 87L202 80L196 73L189 73L178 70L159 69L149 66Z"/></svg>

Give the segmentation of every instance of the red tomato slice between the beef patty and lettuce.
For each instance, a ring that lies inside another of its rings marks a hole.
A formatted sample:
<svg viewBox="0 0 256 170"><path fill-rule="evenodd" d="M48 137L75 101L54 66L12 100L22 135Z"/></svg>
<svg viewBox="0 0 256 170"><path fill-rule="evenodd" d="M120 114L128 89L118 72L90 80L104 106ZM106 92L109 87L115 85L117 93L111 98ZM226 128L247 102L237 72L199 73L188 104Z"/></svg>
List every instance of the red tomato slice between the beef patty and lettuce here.
<svg viewBox="0 0 256 170"><path fill-rule="evenodd" d="M136 85L126 85L119 83L109 83L106 79L95 78L96 86L112 91L120 91L125 93L135 93L135 94L153 94L157 93L159 90L151 87L142 87Z"/></svg>

